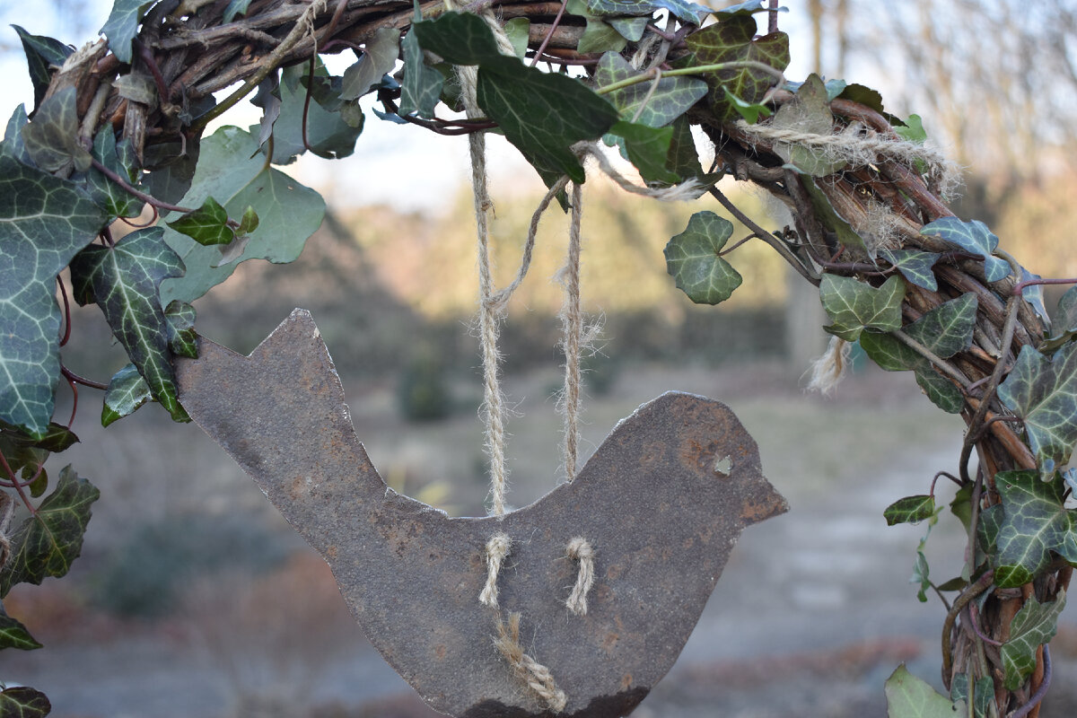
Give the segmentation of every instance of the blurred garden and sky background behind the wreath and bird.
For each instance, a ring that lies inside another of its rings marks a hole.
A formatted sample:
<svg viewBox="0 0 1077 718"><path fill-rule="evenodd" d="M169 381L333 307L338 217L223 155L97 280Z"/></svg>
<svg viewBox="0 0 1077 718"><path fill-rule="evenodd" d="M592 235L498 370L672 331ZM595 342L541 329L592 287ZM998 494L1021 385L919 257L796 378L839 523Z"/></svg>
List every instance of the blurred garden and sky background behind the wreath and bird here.
<svg viewBox="0 0 1077 718"><path fill-rule="evenodd" d="M1032 271L1077 274L1068 236L1077 1L786 4L787 76L817 70L859 82L878 88L890 112L920 114L965 168L959 215L987 222ZM78 45L110 5L0 2L0 19ZM0 73L8 116L32 101L11 30L0 32ZM229 118L256 121L253 108ZM504 285L542 185L500 138L491 144ZM480 513L466 140L369 114L351 157L283 169L330 202L322 228L292 265L240 265L196 304L200 332L246 353L293 307L310 309L386 480L450 513ZM761 194L724 188L764 226L787 224ZM691 213L723 213L716 202L652 202L597 173L586 199L583 296L603 330L585 361L584 453L663 391L704 394L739 414L792 506L742 536L681 660L635 715L882 716L882 684L899 662L938 684L943 609L934 596L919 603L908 582L926 527L887 529L882 510L925 493L937 470L955 470L961 421L935 409L911 375L867 366L830 397L806 394L802 376L825 346L817 294L757 243L729 257L745 278L732 299L693 306L661 251ZM503 327L517 506L563 474L553 277L565 227L556 212L545 220ZM125 364L108 327L96 309L76 311L73 323L65 363L107 381ZM61 395L57 416L66 417ZM101 499L71 574L18 586L5 600L45 648L0 653L0 679L43 690L60 718L433 715L352 623L326 566L199 430L148 407L104 431L99 396L84 390L81 398L82 442L57 459L90 478ZM942 501L949 490L940 488ZM927 544L936 582L960 571L963 543L943 517ZM1068 614L1052 657L1041 715L1074 715L1077 681L1066 677L1077 670L1077 619Z"/></svg>

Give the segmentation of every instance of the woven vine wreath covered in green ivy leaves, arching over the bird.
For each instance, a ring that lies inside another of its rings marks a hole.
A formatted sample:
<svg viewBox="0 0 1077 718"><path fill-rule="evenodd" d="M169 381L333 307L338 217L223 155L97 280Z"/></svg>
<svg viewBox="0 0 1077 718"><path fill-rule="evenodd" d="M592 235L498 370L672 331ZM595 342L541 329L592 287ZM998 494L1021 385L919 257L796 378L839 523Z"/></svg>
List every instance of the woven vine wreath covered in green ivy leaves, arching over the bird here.
<svg viewBox="0 0 1077 718"><path fill-rule="evenodd" d="M510 54L482 18L439 0L115 0L103 39L78 51L15 28L34 97L0 142L0 599L67 573L98 498L73 468L55 479L43 468L78 440L73 416L54 417L58 388L102 391L104 424L150 402L186 421L172 361L196 352L191 302L239 262L298 255L324 203L274 165L349 155L370 111L443 135L502 132L550 187L584 182L578 144L604 141L653 186L705 188L819 286L838 344L911 371L961 414L956 470L935 479L960 487L949 509L969 537L965 569L936 583L923 543L914 567L920 599L931 589L947 610L950 694L899 668L890 715L1034 713L1077 565L1077 477L1064 470L1077 442L1075 290L1052 325L1039 285L1066 280L1033 277L984 224L953 216L918 116L889 114L862 85L788 82L774 2L468 5L488 8ZM340 53L355 61L336 76L321 56ZM453 66L478 68L485 116L458 118ZM241 101L261 109L258 125L204 136ZM714 144L707 171L693 127ZM795 226L763 228L717 188L723 175L772 193ZM154 216L138 226L146 207ZM135 229L116 241L115 222ZM717 304L740 285L730 231L701 212L667 245L693 300ZM64 365L72 300L97 305L130 358L108 381ZM934 525L935 479L886 521ZM40 648L2 604L0 648ZM26 687L0 691L0 706L50 710Z"/></svg>

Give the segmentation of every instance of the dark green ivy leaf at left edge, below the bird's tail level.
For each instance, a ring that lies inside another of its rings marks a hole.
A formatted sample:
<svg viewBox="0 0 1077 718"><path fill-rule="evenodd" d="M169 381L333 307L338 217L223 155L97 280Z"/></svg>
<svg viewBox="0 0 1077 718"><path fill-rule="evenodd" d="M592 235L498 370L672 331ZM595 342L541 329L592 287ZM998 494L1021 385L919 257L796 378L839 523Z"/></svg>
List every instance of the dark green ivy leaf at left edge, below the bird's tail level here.
<svg viewBox="0 0 1077 718"><path fill-rule="evenodd" d="M64 467L53 493L11 536L11 558L0 569L0 599L16 583L40 585L46 576L68 572L82 551L89 505L100 495L88 480Z"/></svg>

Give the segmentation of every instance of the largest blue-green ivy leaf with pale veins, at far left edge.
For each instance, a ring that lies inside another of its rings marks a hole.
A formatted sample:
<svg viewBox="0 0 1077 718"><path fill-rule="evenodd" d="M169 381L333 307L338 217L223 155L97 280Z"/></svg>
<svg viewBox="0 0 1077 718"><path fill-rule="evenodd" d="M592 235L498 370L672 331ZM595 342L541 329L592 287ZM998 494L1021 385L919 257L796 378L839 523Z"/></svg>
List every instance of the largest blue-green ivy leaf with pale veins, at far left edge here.
<svg viewBox="0 0 1077 718"><path fill-rule="evenodd" d="M56 274L103 224L74 184L0 151L0 420L32 436L48 426L60 376Z"/></svg>

